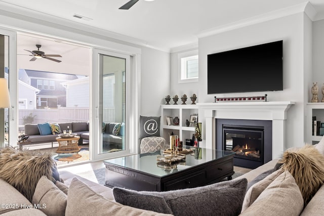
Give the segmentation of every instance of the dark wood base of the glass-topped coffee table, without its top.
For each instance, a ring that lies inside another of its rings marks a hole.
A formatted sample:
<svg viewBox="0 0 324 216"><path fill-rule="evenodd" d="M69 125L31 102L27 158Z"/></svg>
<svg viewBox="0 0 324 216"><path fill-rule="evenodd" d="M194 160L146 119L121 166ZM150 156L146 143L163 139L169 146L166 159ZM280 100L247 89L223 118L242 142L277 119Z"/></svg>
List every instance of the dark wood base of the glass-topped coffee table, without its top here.
<svg viewBox="0 0 324 216"><path fill-rule="evenodd" d="M198 164L164 177L157 177L112 163L105 162L105 165L106 186L136 191L170 191L194 188L216 183L224 178L231 180L234 174L233 155Z"/></svg>

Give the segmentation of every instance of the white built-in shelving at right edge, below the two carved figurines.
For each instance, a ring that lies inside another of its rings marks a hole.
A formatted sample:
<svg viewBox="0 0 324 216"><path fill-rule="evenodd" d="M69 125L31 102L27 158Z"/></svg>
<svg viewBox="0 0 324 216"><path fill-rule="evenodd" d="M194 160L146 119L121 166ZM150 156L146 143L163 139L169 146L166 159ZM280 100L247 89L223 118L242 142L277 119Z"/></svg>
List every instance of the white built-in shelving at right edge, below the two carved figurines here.
<svg viewBox="0 0 324 216"><path fill-rule="evenodd" d="M306 105L306 143L316 144L323 136L312 135L312 116L316 116L316 120L324 123L324 103L307 103Z"/></svg>

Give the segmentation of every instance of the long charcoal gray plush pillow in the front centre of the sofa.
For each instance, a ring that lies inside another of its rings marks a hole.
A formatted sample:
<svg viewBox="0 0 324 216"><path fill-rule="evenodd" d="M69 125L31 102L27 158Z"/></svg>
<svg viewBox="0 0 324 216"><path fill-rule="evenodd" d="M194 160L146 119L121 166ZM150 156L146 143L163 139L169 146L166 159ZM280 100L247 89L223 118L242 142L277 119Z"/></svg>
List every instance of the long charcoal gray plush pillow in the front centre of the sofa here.
<svg viewBox="0 0 324 216"><path fill-rule="evenodd" d="M203 187L166 192L137 192L123 188L113 188L112 192L116 202L160 213L187 216L215 215L217 212L218 215L238 215L247 183L247 179L234 179Z"/></svg>

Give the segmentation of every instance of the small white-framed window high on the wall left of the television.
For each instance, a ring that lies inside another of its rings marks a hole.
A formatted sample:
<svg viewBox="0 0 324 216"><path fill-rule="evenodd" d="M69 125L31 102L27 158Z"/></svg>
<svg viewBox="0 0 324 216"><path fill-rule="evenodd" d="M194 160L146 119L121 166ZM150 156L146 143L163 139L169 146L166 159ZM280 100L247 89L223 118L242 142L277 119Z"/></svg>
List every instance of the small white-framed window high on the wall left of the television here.
<svg viewBox="0 0 324 216"><path fill-rule="evenodd" d="M198 51L179 53L179 83L198 81Z"/></svg>

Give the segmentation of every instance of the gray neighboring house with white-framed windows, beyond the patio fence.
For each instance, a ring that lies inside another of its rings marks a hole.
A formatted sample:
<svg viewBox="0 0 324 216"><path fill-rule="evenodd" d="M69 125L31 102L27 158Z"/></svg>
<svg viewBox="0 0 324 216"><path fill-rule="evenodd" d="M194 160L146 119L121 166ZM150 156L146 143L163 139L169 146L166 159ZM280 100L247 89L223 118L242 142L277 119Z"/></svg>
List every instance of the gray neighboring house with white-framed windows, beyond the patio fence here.
<svg viewBox="0 0 324 216"><path fill-rule="evenodd" d="M26 77L27 75L27 77ZM36 108L57 108L66 106L66 89L61 85L67 80L77 79L76 75L36 70L19 70L19 79L40 92L36 95ZM19 98L21 98L19 96Z"/></svg>

